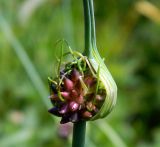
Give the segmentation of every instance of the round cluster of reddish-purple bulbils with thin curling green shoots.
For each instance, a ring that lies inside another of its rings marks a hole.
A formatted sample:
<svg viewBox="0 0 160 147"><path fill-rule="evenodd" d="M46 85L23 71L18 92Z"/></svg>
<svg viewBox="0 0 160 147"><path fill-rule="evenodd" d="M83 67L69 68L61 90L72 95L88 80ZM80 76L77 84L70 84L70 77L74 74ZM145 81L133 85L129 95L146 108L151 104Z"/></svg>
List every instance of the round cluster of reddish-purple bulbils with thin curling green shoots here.
<svg viewBox="0 0 160 147"><path fill-rule="evenodd" d="M61 117L61 124L92 119L103 105L106 91L87 57L76 58L59 72L58 78L49 78L53 104L49 112Z"/></svg>

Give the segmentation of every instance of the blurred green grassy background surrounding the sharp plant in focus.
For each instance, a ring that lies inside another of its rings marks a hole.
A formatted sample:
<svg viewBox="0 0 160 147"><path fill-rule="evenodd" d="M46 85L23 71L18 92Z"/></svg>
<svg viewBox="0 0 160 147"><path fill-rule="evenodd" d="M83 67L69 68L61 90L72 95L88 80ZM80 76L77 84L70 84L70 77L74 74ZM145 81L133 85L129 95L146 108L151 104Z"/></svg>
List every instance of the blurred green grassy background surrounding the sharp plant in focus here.
<svg viewBox="0 0 160 147"><path fill-rule="evenodd" d="M94 2L97 45L118 101L107 118L88 123L86 146L160 147L160 1ZM71 146L47 112L47 77L56 41L83 52L83 29L82 0L0 0L1 147Z"/></svg>

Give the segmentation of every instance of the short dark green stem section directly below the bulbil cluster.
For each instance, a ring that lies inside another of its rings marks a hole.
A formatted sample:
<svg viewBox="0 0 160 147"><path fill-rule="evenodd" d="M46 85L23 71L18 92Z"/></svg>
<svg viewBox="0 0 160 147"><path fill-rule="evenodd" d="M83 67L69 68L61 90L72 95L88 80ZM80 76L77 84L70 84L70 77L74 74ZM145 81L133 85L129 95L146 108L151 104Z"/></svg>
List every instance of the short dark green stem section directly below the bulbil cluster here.
<svg viewBox="0 0 160 147"><path fill-rule="evenodd" d="M72 147L84 147L85 145L86 121L74 124Z"/></svg>

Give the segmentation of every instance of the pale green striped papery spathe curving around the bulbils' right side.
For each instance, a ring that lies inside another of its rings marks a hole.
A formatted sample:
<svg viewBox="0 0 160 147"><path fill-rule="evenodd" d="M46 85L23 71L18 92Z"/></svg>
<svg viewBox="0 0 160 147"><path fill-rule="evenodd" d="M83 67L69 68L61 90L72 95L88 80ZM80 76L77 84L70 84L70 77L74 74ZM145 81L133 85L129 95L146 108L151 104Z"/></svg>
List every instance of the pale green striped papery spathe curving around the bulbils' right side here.
<svg viewBox="0 0 160 147"><path fill-rule="evenodd" d="M95 56L95 58L89 58L88 60L95 71L97 71L100 66L99 78L106 90L106 98L101 109L93 118L91 118L91 120L95 120L107 116L115 106L117 99L117 86L101 58Z"/></svg>

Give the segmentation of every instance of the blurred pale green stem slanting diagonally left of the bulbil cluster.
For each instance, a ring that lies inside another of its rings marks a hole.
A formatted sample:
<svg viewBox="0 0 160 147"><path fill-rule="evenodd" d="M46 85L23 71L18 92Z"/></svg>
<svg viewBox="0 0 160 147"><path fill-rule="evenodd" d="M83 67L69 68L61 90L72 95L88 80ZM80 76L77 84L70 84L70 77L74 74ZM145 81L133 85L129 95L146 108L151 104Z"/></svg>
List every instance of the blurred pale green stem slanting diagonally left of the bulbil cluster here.
<svg viewBox="0 0 160 147"><path fill-rule="evenodd" d="M1 31L4 33L8 43L11 45L11 47L14 49L15 53L17 54L17 57L21 61L21 64L23 65L28 77L30 78L36 90L38 91L43 102L46 104L47 107L50 107L51 104L46 99L46 97L48 96L48 91L44 86L43 81L41 80L38 72L36 71L24 47L21 45L21 43L18 41L18 39L12 32L10 25L2 16L2 14L0 14L0 28L1 28Z"/></svg>

